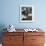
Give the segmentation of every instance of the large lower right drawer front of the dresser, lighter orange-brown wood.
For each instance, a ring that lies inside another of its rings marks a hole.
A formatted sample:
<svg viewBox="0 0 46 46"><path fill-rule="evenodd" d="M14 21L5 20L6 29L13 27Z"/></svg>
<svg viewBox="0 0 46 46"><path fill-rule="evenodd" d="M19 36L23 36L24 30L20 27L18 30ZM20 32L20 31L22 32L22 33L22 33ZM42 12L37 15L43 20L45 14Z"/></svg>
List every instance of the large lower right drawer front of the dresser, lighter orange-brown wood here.
<svg viewBox="0 0 46 46"><path fill-rule="evenodd" d="M43 46L44 35L24 35L24 46Z"/></svg>

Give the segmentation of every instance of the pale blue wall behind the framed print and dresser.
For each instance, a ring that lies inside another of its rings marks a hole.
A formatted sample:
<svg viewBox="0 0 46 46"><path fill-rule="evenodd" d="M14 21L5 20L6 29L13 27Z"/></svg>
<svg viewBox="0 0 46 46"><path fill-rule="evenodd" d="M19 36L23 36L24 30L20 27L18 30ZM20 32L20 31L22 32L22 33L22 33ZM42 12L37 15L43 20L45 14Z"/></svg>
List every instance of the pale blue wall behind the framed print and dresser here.
<svg viewBox="0 0 46 46"><path fill-rule="evenodd" d="M13 24L16 28L39 27L46 28L46 0L0 0L0 25ZM19 21L20 5L33 5L35 22L21 23Z"/></svg>

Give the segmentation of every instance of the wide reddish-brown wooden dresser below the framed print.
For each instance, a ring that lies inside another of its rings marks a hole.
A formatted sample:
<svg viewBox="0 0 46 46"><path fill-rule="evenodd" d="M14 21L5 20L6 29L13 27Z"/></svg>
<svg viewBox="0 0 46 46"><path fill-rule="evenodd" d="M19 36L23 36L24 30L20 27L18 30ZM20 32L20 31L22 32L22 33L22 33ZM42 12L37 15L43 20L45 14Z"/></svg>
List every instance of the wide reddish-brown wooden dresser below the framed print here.
<svg viewBox="0 0 46 46"><path fill-rule="evenodd" d="M3 46L44 46L44 32L3 32Z"/></svg>

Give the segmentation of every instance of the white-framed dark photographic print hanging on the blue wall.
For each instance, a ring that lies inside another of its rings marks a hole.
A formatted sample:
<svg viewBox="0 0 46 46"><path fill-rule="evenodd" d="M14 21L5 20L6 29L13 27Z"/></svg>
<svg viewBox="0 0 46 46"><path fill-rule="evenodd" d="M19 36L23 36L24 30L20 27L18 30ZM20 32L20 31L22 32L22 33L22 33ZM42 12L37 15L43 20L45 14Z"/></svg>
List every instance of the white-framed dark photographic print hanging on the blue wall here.
<svg viewBox="0 0 46 46"><path fill-rule="evenodd" d="M34 21L34 7L32 5L20 6L20 22Z"/></svg>

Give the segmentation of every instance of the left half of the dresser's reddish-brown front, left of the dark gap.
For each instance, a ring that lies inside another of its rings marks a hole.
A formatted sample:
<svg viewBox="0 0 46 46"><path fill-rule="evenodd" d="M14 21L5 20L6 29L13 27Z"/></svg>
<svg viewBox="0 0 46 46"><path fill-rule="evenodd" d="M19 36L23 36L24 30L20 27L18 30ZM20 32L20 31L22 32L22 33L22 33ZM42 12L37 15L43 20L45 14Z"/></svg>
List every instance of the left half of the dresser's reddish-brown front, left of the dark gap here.
<svg viewBox="0 0 46 46"><path fill-rule="evenodd" d="M23 32L4 32L3 46L23 46Z"/></svg>

